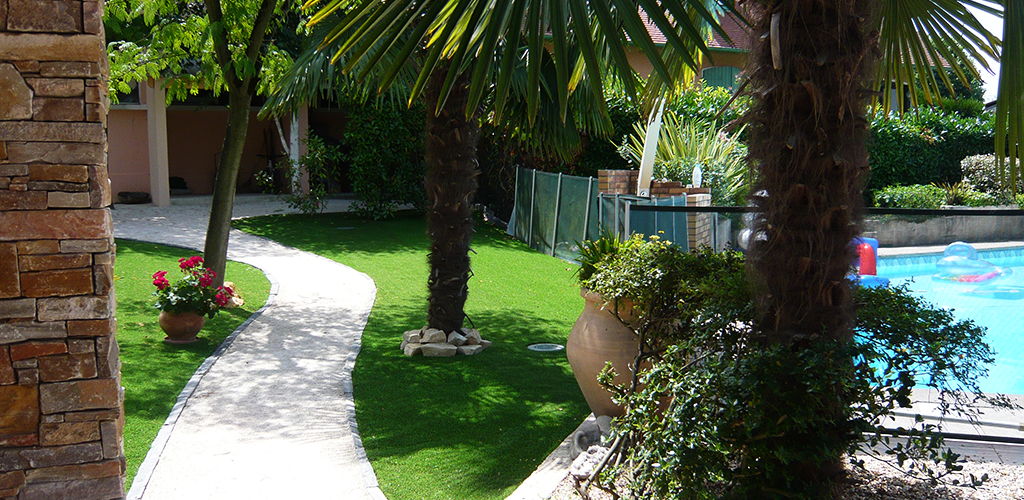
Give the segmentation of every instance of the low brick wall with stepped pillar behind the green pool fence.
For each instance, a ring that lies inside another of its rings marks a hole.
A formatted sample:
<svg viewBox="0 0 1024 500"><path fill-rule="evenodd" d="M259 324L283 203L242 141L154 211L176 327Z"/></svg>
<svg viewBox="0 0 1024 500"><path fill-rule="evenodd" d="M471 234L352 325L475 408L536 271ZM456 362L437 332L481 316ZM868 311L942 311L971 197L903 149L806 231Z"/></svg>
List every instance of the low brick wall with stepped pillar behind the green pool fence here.
<svg viewBox="0 0 1024 500"><path fill-rule="evenodd" d="M608 195L635 195L639 170L598 170L598 191ZM686 187L682 182L652 180L650 182L651 197L672 197L686 195L686 205L690 207L710 207L711 190L708 187ZM690 250L701 245L712 245L712 214L687 214L687 228Z"/></svg>

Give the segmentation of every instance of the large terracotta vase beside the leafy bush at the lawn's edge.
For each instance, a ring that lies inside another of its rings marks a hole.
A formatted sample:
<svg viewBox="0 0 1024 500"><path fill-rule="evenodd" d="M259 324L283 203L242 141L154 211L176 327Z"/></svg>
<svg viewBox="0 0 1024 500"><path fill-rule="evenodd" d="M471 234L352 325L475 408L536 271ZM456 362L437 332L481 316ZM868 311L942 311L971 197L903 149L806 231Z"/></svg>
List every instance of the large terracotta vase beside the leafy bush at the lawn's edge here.
<svg viewBox="0 0 1024 500"><path fill-rule="evenodd" d="M587 302L569 332L569 338L565 342L565 356L594 416L622 416L625 409L612 403L611 392L597 383L597 374L607 362L611 362L617 374L614 378L615 385L629 383L633 373L630 365L639 352L637 337L615 318L613 302L605 304L600 295L589 290L581 290L580 294ZM633 302L620 299L618 316L631 323L634 320Z"/></svg>

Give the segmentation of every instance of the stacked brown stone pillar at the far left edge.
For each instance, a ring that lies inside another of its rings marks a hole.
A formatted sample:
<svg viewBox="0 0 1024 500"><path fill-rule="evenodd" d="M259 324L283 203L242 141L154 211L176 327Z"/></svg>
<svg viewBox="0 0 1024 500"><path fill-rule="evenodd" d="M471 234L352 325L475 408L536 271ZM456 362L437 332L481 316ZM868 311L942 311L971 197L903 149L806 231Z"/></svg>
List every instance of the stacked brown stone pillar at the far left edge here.
<svg viewBox="0 0 1024 500"><path fill-rule="evenodd" d="M0 498L124 497L102 3L0 0Z"/></svg>

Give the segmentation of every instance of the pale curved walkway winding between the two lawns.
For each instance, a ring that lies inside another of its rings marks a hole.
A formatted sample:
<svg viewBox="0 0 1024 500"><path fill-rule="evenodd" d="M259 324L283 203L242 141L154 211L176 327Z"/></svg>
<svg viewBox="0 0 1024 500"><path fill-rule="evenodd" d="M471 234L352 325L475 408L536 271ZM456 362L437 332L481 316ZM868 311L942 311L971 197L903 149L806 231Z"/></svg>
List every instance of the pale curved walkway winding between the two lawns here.
<svg viewBox="0 0 1024 500"><path fill-rule="evenodd" d="M117 205L115 236L201 251L209 197L174 202ZM272 197L240 196L233 213L284 212ZM384 499L356 431L351 385L373 280L237 231L227 255L267 274L272 303L193 377L128 497Z"/></svg>

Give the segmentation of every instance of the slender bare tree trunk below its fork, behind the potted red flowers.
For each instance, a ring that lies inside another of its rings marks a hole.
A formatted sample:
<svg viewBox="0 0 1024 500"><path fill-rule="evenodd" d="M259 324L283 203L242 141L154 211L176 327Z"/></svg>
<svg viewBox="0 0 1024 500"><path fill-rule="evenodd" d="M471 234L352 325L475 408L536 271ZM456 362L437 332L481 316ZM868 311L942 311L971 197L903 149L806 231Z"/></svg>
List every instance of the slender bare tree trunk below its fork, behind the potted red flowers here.
<svg viewBox="0 0 1024 500"><path fill-rule="evenodd" d="M252 93L238 89L228 95L227 131L221 149L217 177L213 184L213 203L210 205L210 223L206 228L206 246L203 255L207 268L217 273L215 286L224 283L227 263L227 235L231 231L231 210L234 206L234 187L242 164L242 149L249 129L249 107Z"/></svg>

